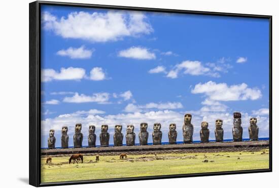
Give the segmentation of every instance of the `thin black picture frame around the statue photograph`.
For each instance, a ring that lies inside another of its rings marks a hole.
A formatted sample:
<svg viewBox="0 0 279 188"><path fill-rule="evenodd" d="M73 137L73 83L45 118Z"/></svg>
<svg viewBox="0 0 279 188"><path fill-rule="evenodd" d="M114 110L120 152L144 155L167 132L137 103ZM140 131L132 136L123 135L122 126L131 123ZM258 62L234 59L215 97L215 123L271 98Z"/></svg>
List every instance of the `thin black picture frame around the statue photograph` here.
<svg viewBox="0 0 279 188"><path fill-rule="evenodd" d="M42 5L268 19L269 20L269 169L41 183L41 6ZM188 11L188 10L170 10L170 9L143 8L143 7L91 5L91 4L77 4L77 3L57 3L57 2L45 2L45 1L36 1L29 4L29 184L30 185L33 186L70 185L70 184L165 179L165 178L179 178L179 177L193 177L193 176L243 174L243 173L257 173L257 172L271 172L271 171L272 171L272 16Z"/></svg>

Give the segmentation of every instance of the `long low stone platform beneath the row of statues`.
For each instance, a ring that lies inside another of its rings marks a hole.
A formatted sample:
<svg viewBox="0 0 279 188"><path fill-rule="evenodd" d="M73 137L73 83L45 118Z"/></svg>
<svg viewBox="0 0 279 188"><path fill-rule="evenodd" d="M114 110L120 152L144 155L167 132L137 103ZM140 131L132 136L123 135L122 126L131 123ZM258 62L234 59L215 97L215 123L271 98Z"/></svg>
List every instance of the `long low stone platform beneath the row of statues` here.
<svg viewBox="0 0 279 188"><path fill-rule="evenodd" d="M68 155L68 154L110 154L110 153L138 153L138 152L160 152L165 151L194 151L200 152L212 150L228 150L231 149L249 149L249 148L269 147L269 140L246 141L246 142L223 142L223 143L195 143L195 144L177 144L177 145L148 145L148 146L118 146L118 147L96 147L96 148L68 148L68 149L42 149L41 155ZM233 150L232 150L233 151Z"/></svg>

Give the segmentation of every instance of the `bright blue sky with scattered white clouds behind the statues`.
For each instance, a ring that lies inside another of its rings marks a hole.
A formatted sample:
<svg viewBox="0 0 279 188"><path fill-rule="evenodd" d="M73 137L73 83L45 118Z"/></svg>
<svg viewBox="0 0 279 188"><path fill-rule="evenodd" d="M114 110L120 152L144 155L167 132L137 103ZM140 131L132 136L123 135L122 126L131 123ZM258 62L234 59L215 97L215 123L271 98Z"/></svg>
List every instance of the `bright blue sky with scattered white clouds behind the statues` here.
<svg viewBox="0 0 279 188"><path fill-rule="evenodd" d="M223 119L230 139L232 114L242 113L243 137L257 117L260 137L268 137L269 22L267 19L109 11L42 6L42 147L55 129L82 123L133 124L138 134L148 122L170 123L182 141L183 115L192 113L194 140L201 121L214 139ZM123 140L125 143L125 138ZM138 137L136 136L136 143ZM97 144L99 140L97 139Z"/></svg>

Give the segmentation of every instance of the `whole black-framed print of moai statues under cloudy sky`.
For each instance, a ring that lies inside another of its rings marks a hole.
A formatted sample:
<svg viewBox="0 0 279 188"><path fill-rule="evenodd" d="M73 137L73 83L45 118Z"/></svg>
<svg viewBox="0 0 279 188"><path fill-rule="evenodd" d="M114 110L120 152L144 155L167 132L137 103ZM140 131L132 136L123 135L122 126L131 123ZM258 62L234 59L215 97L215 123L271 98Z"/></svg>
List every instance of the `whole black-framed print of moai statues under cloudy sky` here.
<svg viewBox="0 0 279 188"><path fill-rule="evenodd" d="M30 184L270 172L271 18L30 3Z"/></svg>

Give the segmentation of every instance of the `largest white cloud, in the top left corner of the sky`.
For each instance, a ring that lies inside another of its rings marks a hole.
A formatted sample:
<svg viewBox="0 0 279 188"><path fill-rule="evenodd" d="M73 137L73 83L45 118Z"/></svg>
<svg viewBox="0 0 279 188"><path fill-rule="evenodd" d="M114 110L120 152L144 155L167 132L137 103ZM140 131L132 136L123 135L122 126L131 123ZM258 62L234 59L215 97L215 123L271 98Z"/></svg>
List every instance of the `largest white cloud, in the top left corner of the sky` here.
<svg viewBox="0 0 279 188"><path fill-rule="evenodd" d="M42 23L63 38L106 42L120 40L125 36L150 34L152 26L140 12L108 11L107 13L72 12L60 19L44 12Z"/></svg>

